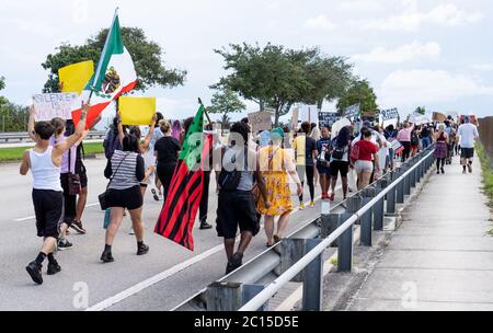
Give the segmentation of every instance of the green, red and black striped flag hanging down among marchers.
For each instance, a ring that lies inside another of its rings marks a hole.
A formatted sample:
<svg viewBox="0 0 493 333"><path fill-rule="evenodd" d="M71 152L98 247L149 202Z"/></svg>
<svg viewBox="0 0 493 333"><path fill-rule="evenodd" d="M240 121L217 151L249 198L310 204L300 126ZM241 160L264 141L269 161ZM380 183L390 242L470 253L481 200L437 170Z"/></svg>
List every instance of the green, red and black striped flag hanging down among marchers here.
<svg viewBox="0 0 493 333"><path fill-rule="evenodd" d="M154 232L194 251L192 236L202 198L204 161L211 140L204 136L204 106L200 105L183 143L167 200Z"/></svg>

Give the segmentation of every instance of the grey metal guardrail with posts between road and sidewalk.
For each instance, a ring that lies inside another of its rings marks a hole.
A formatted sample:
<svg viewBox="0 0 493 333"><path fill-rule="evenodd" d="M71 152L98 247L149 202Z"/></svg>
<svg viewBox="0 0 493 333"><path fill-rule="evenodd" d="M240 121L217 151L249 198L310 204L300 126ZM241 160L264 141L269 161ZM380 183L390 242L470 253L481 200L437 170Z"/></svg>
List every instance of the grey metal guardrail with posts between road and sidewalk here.
<svg viewBox="0 0 493 333"><path fill-rule="evenodd" d="M360 223L360 245L371 246L372 230L383 230L386 214L397 213L397 204L404 203L405 195L433 165L433 150L434 146L422 151L173 310L265 310L268 300L288 282L303 283L303 310L321 310L325 249L336 245L337 272L351 272L355 222Z"/></svg>

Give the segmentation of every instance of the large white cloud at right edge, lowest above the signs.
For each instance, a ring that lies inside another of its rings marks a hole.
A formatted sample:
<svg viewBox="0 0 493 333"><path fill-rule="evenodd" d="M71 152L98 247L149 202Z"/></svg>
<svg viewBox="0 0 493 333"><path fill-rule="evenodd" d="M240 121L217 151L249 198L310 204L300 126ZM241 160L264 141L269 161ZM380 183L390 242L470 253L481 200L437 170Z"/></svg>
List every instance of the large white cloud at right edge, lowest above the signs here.
<svg viewBox="0 0 493 333"><path fill-rule="evenodd" d="M493 88L465 74L444 70L398 70L383 80L378 95L385 105L409 106L493 96Z"/></svg>

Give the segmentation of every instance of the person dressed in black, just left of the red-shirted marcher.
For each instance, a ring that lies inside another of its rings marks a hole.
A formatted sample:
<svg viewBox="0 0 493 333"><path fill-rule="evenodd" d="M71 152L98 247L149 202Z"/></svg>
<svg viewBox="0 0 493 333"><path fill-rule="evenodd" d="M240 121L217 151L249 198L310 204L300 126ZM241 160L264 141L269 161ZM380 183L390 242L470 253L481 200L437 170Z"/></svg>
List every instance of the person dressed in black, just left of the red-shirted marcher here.
<svg viewBox="0 0 493 333"><path fill-rule="evenodd" d="M335 185L337 185L337 176L341 174L343 187L343 197L347 197L347 173L349 172L349 148L351 148L351 129L348 126L341 128L339 135L332 141L331 154L331 202L335 197Z"/></svg>

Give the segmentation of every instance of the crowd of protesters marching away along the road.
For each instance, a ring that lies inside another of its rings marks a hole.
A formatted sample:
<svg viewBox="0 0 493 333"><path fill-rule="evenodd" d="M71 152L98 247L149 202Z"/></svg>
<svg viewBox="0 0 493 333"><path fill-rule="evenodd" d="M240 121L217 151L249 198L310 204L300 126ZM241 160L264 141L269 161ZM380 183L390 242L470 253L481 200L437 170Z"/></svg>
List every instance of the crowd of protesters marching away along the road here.
<svg viewBox="0 0 493 333"><path fill-rule="evenodd" d="M82 223L88 196L82 141L89 107L83 107L77 127L59 118L35 123L35 114L31 112L28 128L36 146L24 154L21 174L27 174L28 170L33 174L37 236L43 239L38 255L26 267L36 284L43 284L42 265L46 259L48 275L61 271L55 253L72 246L67 238L70 230L87 232ZM131 220L136 254L149 252L145 243L144 197L150 188L154 200L167 200L193 120L171 122L157 113L142 135L139 126L124 126L118 114L114 118L104 140L107 159L104 175L108 184L101 198L107 208L102 262L115 260L112 246L125 215ZM445 173L446 165L459 151L463 173L472 172L478 129L469 117L422 125L404 122L385 128L369 120L347 123L351 125L319 127L306 122L299 128L253 133L244 118L231 125L227 140L222 140L220 130L214 130L214 124L205 126L204 135L211 137L213 145L202 161L205 166L199 229L208 230L214 228L211 223L216 225L225 243L227 274L242 265L250 242L261 231L262 219L267 248L286 236L291 213L307 208L305 185L310 195L309 208L316 206L316 186L320 186L322 200L334 202L340 182L341 199L346 199L349 193L365 188L432 145L437 174ZM395 147L399 149L394 150ZM215 186L218 195L215 221L208 211L210 186ZM295 194L298 199L293 200Z"/></svg>

